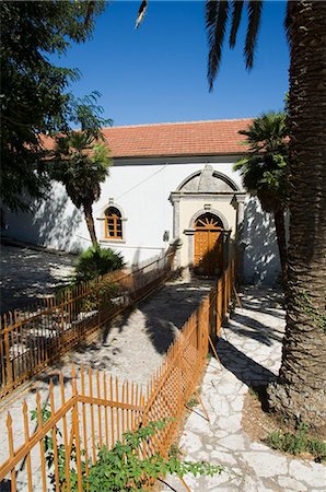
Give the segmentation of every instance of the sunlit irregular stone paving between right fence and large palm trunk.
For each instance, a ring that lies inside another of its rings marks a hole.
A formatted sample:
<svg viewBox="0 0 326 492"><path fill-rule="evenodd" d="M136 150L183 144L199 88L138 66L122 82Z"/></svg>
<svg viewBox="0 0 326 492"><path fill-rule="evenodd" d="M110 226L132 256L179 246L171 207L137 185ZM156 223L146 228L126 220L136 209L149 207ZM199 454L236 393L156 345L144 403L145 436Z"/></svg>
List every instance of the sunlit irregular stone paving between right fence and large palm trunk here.
<svg viewBox="0 0 326 492"><path fill-rule="evenodd" d="M221 464L225 471L212 478L189 476L186 483L191 492L326 491L324 465L277 453L251 441L242 429L248 386L272 380L278 372L284 328L276 293L247 289L242 302L218 344L222 370L212 359L203 378L201 398L210 422L196 407L179 443L185 458ZM175 478L167 483L185 491ZM162 491L171 488L164 485Z"/></svg>

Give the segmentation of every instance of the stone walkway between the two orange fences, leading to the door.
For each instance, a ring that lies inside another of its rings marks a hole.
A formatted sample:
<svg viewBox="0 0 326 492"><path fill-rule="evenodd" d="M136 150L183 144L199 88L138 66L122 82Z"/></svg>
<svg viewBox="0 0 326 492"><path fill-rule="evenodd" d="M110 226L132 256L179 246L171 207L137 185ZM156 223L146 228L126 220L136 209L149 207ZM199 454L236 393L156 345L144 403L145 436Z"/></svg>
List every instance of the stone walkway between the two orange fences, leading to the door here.
<svg viewBox="0 0 326 492"><path fill-rule="evenodd" d="M34 409L36 390L39 391L42 401L48 401L48 382L53 377L56 407L59 406L57 375L60 371L65 376L67 397L71 394L72 365L78 375L83 364L85 367L105 370L108 374L118 376L121 383L129 379L144 386L153 371L161 364L178 329L211 286L212 282L199 280L178 279L167 282L137 307L126 311L114 319L91 342L80 344L46 372L35 376L27 388L19 389L15 397L0 408L0 462L8 458L5 432L8 410L13 419L15 446L19 446L23 443L24 435L22 402L26 400L28 409ZM31 425L31 431L34 425ZM25 483L24 478L23 470L19 476L20 483ZM19 488L20 490L23 491L24 487ZM38 491L38 488L34 490Z"/></svg>

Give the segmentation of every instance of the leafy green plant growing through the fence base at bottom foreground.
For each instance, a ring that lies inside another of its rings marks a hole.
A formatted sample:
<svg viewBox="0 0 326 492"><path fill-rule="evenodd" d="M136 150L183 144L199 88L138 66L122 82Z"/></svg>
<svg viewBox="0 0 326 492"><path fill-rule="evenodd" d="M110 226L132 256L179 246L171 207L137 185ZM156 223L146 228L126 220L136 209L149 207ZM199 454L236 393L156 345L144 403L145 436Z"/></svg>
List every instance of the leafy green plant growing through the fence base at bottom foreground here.
<svg viewBox="0 0 326 492"><path fill-rule="evenodd" d="M46 422L50 412L43 408L43 419ZM32 412L32 419L37 419L37 412ZM167 457L155 453L147 456L143 453L142 444L149 442L158 431L162 431L167 420L150 422L147 426L140 426L137 431L127 431L123 440L118 441L112 449L105 445L98 449L95 464L88 462L88 475L85 473L85 459L82 460L82 482L83 489L90 492L128 492L145 491L148 485L155 479L165 478L168 473L184 477L186 473L213 476L221 473L223 468L220 465L210 465L206 461L182 461L179 450L173 448ZM58 430L57 434L61 436ZM54 466L54 443L51 436L45 442L45 456L48 469ZM82 452L82 456L84 453ZM66 483L66 454L62 444L58 445L58 472L59 489ZM78 490L77 484L77 456L75 448L72 447L69 457L70 489L71 492ZM51 472L51 483L55 489L55 476Z"/></svg>

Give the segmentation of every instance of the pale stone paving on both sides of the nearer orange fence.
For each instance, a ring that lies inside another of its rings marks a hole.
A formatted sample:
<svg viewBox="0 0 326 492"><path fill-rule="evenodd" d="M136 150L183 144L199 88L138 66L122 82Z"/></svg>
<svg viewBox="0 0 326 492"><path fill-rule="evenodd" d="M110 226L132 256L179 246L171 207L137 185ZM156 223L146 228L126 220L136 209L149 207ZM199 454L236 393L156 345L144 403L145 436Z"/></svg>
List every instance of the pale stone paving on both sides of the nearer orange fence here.
<svg viewBox="0 0 326 492"><path fill-rule="evenodd" d="M35 408L36 391L42 401L48 401L48 382L53 378L56 384L60 371L69 394L72 366L78 377L84 365L144 386L211 285L209 281L181 278L124 312L98 336L81 343L35 376L31 384L16 390L1 408L1 427L5 425L7 410L13 421L19 422L24 400L30 409ZM194 492L323 491L324 465L273 452L251 438L244 429L243 408L248 388L272 382L277 376L284 312L282 296L273 290L246 288L241 293L241 302L242 307L235 308L218 342L221 365L212 358L202 380L201 398L210 421L205 419L201 407L196 407L188 415L179 441L185 459L221 464L224 471L213 478L186 477L186 483ZM58 390L55 386L55 391ZM16 433L14 438L19 445L22 433ZM7 444L3 434L1 461L5 459ZM23 490L24 469L18 475L18 483L19 490ZM171 487L178 492L184 490L173 477L167 478L166 483L164 492Z"/></svg>

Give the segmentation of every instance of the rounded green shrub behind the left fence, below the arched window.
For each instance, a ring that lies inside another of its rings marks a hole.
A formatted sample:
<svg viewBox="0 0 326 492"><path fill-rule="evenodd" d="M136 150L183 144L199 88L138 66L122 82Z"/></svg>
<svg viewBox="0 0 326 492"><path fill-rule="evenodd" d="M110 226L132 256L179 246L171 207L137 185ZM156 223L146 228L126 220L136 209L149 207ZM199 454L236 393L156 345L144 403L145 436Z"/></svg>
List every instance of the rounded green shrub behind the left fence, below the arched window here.
<svg viewBox="0 0 326 492"><path fill-rule="evenodd" d="M90 247L81 253L75 263L75 280L84 282L96 279L114 270L119 270L125 265L119 253L110 248Z"/></svg>

